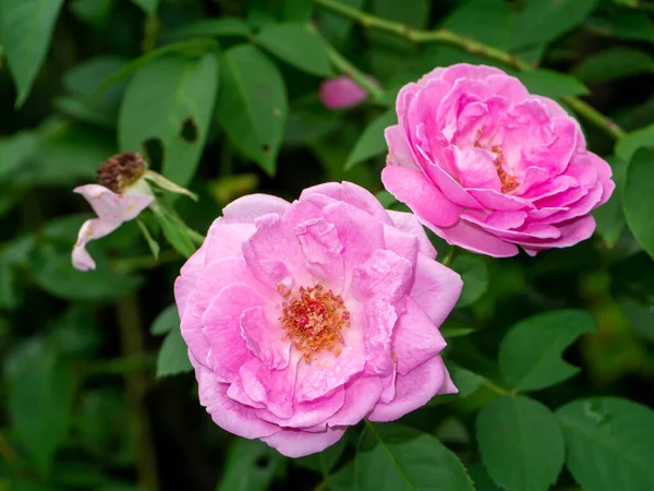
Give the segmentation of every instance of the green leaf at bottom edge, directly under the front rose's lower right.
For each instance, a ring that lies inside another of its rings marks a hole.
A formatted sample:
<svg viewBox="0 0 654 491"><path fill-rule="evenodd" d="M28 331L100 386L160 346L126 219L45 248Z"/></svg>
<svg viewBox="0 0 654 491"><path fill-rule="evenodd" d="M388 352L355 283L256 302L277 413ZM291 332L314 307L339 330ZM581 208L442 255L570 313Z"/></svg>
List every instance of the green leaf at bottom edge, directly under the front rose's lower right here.
<svg viewBox="0 0 654 491"><path fill-rule="evenodd" d="M473 490L461 462L428 433L366 421L355 460L359 491Z"/></svg>

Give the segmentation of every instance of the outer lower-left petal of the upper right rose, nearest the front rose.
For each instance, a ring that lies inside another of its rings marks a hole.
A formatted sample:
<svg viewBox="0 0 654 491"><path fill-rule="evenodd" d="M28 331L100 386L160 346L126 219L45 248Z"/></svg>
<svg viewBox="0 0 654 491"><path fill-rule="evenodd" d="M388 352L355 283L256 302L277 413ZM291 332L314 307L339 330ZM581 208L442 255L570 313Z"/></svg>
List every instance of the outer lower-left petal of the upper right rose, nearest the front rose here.
<svg viewBox="0 0 654 491"><path fill-rule="evenodd" d="M403 167L386 167L382 171L385 188L407 203L420 218L437 227L448 227L459 220L462 208L445 197L422 172Z"/></svg>

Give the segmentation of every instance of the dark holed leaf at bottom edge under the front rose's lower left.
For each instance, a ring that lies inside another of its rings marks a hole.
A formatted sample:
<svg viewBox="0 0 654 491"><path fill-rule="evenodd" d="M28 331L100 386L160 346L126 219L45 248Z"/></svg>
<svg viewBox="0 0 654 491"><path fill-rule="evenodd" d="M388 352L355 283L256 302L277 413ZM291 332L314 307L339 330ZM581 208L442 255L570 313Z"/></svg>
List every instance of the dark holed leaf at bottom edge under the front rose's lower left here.
<svg viewBox="0 0 654 491"><path fill-rule="evenodd" d="M265 443L237 439L216 491L266 491L282 465L282 456Z"/></svg>

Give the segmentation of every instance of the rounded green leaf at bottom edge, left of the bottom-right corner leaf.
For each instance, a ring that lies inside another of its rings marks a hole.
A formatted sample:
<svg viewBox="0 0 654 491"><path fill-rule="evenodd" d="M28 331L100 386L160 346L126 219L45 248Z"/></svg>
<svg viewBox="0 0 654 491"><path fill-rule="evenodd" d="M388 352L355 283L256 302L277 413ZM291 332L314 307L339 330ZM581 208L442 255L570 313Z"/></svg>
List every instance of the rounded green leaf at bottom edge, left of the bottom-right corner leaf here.
<svg viewBox="0 0 654 491"><path fill-rule="evenodd" d="M476 418L484 466L502 489L546 491L564 467L565 443L552 411L524 396L498 397Z"/></svg>

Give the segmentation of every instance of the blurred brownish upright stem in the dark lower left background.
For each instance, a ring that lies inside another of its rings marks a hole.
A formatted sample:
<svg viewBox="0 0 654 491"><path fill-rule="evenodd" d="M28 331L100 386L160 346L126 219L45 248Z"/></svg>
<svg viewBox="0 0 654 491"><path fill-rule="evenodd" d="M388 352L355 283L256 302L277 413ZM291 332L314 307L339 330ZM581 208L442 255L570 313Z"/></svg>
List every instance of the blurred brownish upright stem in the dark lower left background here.
<svg viewBox="0 0 654 491"><path fill-rule="evenodd" d="M124 357L142 356L145 350L141 311L135 295L122 298L117 304L120 343ZM143 371L125 373L125 398L135 436L138 486L148 491L159 489L159 477L149 416L144 398L148 376Z"/></svg>

